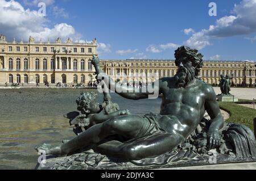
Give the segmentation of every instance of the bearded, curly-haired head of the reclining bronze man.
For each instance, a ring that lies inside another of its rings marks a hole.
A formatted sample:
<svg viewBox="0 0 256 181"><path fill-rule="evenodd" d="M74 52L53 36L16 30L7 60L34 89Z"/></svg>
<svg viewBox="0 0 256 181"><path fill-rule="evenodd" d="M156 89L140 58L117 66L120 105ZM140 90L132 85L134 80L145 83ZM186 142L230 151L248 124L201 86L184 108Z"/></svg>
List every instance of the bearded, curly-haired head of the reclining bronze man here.
<svg viewBox="0 0 256 181"><path fill-rule="evenodd" d="M181 46L175 51L175 64L178 67L175 78L178 87L185 87L196 78L203 67L203 55L198 50Z"/></svg>

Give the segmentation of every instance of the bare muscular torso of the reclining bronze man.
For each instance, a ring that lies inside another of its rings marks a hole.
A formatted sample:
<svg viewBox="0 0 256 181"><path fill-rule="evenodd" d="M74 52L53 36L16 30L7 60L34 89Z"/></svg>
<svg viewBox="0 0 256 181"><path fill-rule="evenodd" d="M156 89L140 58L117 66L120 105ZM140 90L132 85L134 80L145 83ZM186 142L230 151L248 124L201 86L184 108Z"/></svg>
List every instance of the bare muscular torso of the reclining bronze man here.
<svg viewBox="0 0 256 181"><path fill-rule="evenodd" d="M163 98L159 125L167 132L189 136L203 119L205 108L205 83L194 80L195 83L185 88L177 89L171 79L163 82Z"/></svg>

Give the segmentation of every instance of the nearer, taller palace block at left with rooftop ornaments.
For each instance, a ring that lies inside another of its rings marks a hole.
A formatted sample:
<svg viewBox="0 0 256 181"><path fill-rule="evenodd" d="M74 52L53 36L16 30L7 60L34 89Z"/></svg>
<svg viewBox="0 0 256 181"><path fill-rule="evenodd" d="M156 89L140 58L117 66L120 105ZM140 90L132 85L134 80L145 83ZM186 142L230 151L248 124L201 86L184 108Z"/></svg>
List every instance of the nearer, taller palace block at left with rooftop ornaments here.
<svg viewBox="0 0 256 181"><path fill-rule="evenodd" d="M8 42L0 36L0 83L85 83L93 79L89 61L97 55L97 41L73 43L60 38L55 42Z"/></svg>

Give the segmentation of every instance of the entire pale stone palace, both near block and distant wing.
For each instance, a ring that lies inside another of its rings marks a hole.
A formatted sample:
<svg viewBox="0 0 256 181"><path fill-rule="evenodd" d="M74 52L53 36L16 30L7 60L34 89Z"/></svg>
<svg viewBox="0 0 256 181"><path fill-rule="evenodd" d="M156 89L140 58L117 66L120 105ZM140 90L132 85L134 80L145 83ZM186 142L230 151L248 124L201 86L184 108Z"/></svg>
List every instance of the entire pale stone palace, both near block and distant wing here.
<svg viewBox="0 0 256 181"><path fill-rule="evenodd" d="M7 83L88 83L95 80L90 62L97 56L97 41L73 43L60 38L55 42L8 42L0 35L0 84ZM177 68L174 60L101 60L102 70L114 80L152 82L172 77ZM209 84L218 84L220 75L234 74L235 85L256 84L256 62L204 61L200 77ZM129 77L126 77L129 75ZM157 76L157 77L156 77Z"/></svg>

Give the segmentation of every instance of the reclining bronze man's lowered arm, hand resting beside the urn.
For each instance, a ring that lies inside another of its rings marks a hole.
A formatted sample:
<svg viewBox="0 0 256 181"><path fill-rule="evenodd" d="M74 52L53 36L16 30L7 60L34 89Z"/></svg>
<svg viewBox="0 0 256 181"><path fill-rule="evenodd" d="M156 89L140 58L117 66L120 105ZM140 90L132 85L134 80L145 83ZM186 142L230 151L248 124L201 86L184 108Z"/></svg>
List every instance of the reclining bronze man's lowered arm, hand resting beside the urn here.
<svg viewBox="0 0 256 181"><path fill-rule="evenodd" d="M224 126L224 119L220 112L220 107L216 99L216 94L212 87L206 89L205 110L210 116L210 127L208 130L208 149L215 148L220 142L218 131Z"/></svg>

